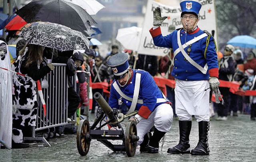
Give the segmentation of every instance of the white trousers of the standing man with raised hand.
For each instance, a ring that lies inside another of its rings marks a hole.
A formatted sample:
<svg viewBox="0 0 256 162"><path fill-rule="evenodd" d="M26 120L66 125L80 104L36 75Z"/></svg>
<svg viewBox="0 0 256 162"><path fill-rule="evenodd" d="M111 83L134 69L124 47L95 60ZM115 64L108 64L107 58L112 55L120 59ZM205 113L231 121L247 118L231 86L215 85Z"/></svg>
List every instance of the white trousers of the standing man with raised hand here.
<svg viewBox="0 0 256 162"><path fill-rule="evenodd" d="M175 110L179 120L191 121L194 115L197 121L209 121L209 81L175 81Z"/></svg>

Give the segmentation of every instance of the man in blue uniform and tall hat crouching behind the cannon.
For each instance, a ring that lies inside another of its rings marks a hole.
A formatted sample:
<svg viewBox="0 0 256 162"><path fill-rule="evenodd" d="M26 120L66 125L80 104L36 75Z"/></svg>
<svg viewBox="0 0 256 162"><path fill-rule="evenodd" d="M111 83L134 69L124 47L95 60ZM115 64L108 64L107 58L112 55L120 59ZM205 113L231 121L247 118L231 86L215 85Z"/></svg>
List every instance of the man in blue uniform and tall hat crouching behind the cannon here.
<svg viewBox="0 0 256 162"><path fill-rule="evenodd" d="M142 143L144 135L154 126L147 152L158 153L161 138L172 126L173 112L170 101L148 72L130 69L126 53L112 55L106 63L114 72L109 106L118 109L120 105L125 104L129 108L127 113L138 111L138 114L130 119L137 123L137 135L140 137L137 145Z"/></svg>

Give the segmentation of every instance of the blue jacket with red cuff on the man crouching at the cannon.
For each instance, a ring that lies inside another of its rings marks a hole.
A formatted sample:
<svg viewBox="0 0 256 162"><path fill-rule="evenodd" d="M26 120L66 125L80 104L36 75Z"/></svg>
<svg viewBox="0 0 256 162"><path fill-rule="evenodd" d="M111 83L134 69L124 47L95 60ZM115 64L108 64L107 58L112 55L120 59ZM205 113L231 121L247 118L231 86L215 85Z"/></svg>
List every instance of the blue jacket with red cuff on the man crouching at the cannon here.
<svg viewBox="0 0 256 162"><path fill-rule="evenodd" d="M118 81L116 80L113 81L110 89L110 97L109 97L108 104L112 109L119 107L118 99L120 99L121 96L114 88L113 86L114 82L116 82L118 87L120 87L120 90L122 91L122 93L124 93L128 97L133 98L136 73L141 73L140 91L139 91L138 99L142 99L143 104L137 103L135 110L138 110L138 115L148 119L148 116L152 113L152 111L154 111L154 109L156 109L156 107L158 107L163 103L170 103L170 101L168 101L168 99L166 99L166 97L163 96L162 92L157 87L154 79L147 71L134 70L134 69L132 69L132 71L133 71L133 74L132 74L132 79L130 80L130 83L128 83L124 87L121 87ZM166 100L164 102L157 103L157 99L166 99ZM122 102L126 104L127 107L130 109L132 101L128 101L122 98Z"/></svg>

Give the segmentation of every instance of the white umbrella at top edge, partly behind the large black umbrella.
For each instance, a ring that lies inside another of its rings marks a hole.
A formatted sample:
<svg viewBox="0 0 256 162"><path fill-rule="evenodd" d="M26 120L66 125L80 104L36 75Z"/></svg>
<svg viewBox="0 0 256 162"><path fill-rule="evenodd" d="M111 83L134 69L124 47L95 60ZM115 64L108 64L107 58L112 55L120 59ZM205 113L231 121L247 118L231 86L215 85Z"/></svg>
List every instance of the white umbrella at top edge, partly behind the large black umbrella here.
<svg viewBox="0 0 256 162"><path fill-rule="evenodd" d="M96 15L99 10L105 8L96 0L65 0L82 7L89 15Z"/></svg>

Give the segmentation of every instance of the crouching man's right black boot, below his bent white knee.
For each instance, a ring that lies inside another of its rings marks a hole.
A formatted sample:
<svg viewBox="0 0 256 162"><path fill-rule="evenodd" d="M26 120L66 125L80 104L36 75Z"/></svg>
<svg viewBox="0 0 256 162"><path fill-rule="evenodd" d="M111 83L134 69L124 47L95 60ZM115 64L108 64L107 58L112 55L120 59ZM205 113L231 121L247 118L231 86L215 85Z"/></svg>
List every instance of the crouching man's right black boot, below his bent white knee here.
<svg viewBox="0 0 256 162"><path fill-rule="evenodd" d="M156 128L154 129L153 136L149 140L149 148L148 148L148 153L158 153L159 149L159 142L162 139L162 137L166 134L166 132L161 132L157 130Z"/></svg>

